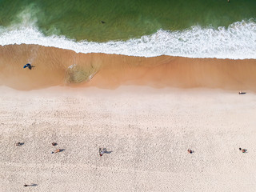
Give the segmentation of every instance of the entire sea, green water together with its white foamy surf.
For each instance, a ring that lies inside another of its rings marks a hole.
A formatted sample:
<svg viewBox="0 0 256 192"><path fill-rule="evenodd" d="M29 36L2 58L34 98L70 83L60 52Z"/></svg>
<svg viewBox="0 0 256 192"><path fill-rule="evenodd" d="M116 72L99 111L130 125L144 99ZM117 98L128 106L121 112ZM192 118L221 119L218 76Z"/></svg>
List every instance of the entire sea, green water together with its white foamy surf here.
<svg viewBox="0 0 256 192"><path fill-rule="evenodd" d="M0 45L12 44L85 54L256 58L256 1L0 0Z"/></svg>

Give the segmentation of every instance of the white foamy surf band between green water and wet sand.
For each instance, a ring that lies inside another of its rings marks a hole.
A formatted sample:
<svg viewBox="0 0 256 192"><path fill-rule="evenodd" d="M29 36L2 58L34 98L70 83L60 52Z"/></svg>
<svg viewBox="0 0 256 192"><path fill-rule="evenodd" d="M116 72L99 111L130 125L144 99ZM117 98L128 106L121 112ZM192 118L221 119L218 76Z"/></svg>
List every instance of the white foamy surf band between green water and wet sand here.
<svg viewBox="0 0 256 192"><path fill-rule="evenodd" d="M127 41L75 42L64 36L46 37L35 26L0 28L0 45L38 44L77 53L124 54L154 57L159 55L188 58L256 58L256 23L234 22L228 28L193 26L182 31L158 30L155 34Z"/></svg>

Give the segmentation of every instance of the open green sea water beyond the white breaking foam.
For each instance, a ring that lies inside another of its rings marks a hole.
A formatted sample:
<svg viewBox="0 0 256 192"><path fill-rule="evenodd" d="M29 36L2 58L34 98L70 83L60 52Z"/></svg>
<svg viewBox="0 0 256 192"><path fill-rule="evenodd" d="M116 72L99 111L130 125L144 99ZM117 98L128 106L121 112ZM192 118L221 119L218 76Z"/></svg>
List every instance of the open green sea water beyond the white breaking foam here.
<svg viewBox="0 0 256 192"><path fill-rule="evenodd" d="M255 18L255 0L0 0L1 27L33 24L47 36L91 42L139 38L159 29L227 27Z"/></svg>

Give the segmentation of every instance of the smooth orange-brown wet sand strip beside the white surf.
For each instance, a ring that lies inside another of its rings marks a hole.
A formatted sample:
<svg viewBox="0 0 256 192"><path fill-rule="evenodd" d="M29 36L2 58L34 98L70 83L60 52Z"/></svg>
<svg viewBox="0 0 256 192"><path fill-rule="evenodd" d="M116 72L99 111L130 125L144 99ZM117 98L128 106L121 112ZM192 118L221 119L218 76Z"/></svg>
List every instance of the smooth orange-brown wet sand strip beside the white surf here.
<svg viewBox="0 0 256 192"><path fill-rule="evenodd" d="M0 46L0 52L0 85L17 90L50 86L115 89L122 85L256 90L254 59L76 54L34 45ZM33 70L22 68L27 62L35 66Z"/></svg>

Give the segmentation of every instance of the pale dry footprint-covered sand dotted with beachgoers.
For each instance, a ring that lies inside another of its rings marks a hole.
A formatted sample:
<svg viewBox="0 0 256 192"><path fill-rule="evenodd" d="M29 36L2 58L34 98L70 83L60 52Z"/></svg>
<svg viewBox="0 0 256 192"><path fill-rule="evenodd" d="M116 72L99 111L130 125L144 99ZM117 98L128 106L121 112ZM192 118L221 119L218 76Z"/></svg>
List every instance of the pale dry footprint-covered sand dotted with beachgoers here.
<svg viewBox="0 0 256 192"><path fill-rule="evenodd" d="M254 93L0 89L1 191L256 189Z"/></svg>

